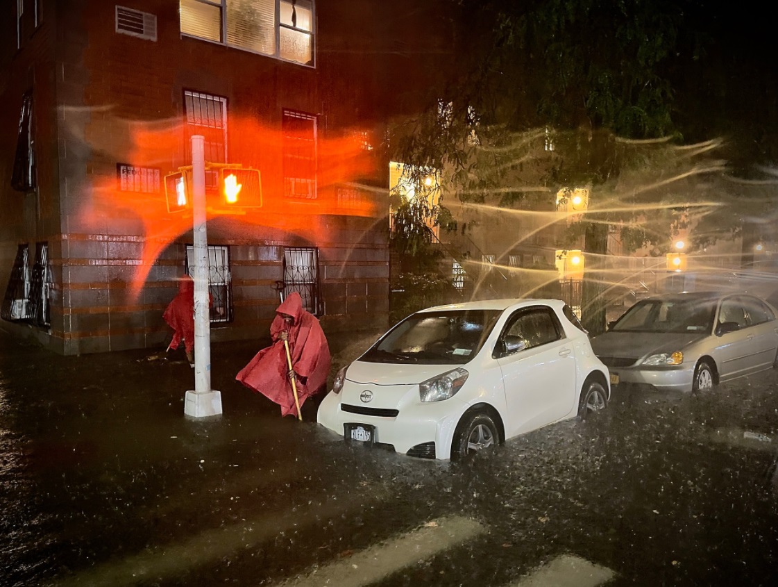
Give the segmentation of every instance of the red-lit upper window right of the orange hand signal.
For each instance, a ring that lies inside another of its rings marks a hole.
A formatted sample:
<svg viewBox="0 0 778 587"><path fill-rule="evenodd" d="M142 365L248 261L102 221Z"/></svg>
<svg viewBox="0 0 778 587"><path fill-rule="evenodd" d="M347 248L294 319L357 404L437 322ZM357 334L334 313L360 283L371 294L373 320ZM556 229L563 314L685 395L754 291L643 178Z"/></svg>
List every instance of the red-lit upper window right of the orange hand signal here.
<svg viewBox="0 0 778 587"><path fill-rule="evenodd" d="M285 110L282 118L284 195L316 197L316 117Z"/></svg>

